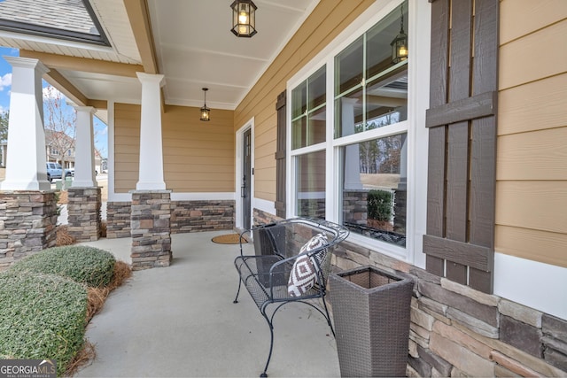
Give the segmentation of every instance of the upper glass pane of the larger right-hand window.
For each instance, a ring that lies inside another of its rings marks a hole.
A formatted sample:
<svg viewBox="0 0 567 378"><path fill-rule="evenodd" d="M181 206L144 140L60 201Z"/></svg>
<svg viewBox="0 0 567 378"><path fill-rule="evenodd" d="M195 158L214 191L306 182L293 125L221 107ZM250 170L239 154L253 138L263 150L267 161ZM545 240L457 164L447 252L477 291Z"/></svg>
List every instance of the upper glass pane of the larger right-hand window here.
<svg viewBox="0 0 567 378"><path fill-rule="evenodd" d="M390 47L399 25L400 8L335 58L335 138L408 119L408 60L393 64Z"/></svg>

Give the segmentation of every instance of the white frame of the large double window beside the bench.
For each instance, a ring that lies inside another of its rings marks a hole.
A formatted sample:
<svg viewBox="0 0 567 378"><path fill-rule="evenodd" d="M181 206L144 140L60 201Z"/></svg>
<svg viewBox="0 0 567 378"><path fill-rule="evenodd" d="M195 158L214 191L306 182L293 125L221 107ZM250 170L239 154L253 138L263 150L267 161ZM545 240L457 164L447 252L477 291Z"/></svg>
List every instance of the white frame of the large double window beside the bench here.
<svg viewBox="0 0 567 378"><path fill-rule="evenodd" d="M408 182L407 182L407 224L406 248L384 243L363 235L351 233L350 242L380 251L385 255L408 261L416 266L425 266L424 255L421 253L423 234L426 228L427 210L427 149L428 133L425 127L425 110L429 108L429 74L430 74L430 35L431 35L431 4L422 0L408 0L408 39L410 56L408 58L408 120L403 120L389 127L380 127L364 133L347 135L334 139L334 72L335 57L346 47L366 33L370 27L384 19L403 0L377 1L369 9L354 20L349 27L338 35L333 42L315 56L306 66L301 68L289 81L287 81L287 104L291 102L291 92L302 81L315 73L322 66L326 67L327 99L326 119L327 135L325 143L310 145L297 150L291 150L291 106L287 107L287 156L286 181L290 183L290 190L286 197L286 217L297 216L296 198L296 169L297 156L318 150L326 151L326 197L325 213L327 220L340 219L339 198L340 172L339 149L352 143L381 138L389 135L407 133L408 135Z"/></svg>

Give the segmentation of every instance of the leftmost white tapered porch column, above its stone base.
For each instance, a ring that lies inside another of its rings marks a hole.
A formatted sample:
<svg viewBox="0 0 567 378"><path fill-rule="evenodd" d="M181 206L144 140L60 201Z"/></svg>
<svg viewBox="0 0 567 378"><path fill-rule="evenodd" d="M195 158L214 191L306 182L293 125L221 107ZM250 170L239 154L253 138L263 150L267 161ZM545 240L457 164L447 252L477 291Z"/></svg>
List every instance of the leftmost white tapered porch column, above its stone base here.
<svg viewBox="0 0 567 378"><path fill-rule="evenodd" d="M38 59L4 57L12 65L8 120L10 153L2 190L50 190L45 167L42 76L49 69Z"/></svg>

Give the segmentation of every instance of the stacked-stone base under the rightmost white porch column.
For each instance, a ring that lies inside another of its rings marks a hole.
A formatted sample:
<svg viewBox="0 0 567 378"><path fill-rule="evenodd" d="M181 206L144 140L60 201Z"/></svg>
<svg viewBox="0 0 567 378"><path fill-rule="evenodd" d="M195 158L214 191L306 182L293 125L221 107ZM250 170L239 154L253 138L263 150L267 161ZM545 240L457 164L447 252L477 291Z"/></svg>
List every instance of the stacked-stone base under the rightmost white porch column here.
<svg viewBox="0 0 567 378"><path fill-rule="evenodd" d="M132 270L169 266L171 191L133 190L131 211Z"/></svg>

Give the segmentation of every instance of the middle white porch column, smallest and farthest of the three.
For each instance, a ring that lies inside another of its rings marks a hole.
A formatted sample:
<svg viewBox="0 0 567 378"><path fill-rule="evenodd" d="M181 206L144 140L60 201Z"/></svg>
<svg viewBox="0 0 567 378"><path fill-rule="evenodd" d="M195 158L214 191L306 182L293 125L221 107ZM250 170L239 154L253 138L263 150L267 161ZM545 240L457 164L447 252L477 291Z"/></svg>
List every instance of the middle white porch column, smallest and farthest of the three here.
<svg viewBox="0 0 567 378"><path fill-rule="evenodd" d="M74 152L74 181L72 187L92 188L95 179L95 143L93 138L92 106L73 106L77 111Z"/></svg>

